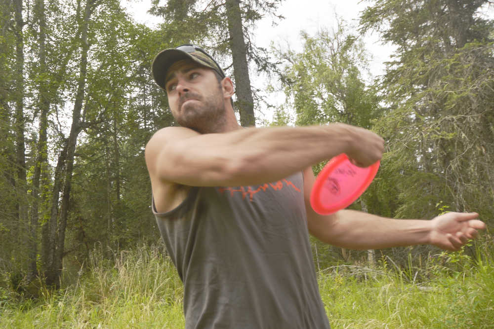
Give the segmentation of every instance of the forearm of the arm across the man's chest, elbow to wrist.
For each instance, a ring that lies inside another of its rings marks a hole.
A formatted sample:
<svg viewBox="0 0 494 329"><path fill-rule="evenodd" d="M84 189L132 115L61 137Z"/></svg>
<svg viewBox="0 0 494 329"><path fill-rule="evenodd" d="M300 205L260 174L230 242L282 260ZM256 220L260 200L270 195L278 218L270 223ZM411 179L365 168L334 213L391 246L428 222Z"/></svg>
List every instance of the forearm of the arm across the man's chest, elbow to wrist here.
<svg viewBox="0 0 494 329"><path fill-rule="evenodd" d="M266 183L346 152L352 142L351 132L342 125L258 128L230 145L227 153L232 155L236 181Z"/></svg>

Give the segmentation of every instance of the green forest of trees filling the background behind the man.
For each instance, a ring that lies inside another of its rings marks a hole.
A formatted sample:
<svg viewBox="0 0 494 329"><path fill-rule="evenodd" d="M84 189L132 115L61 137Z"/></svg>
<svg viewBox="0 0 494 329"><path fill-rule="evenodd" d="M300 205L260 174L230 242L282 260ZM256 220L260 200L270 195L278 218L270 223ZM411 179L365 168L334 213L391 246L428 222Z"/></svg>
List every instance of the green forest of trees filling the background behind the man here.
<svg viewBox="0 0 494 329"><path fill-rule="evenodd" d="M475 211L488 225L459 254L356 252L314 240L320 272L358 268L359 277L392 263L415 282L430 279L431 264L458 275L492 259L494 21L484 14L492 1L367 1L355 28L335 16L335 28L301 31L301 50L259 47L256 22L282 20L283 3L153 1L149 12L161 23L149 27L118 0L0 0L2 307L80 283L98 268L95 254L119 268L126 252L165 253L144 146L176 123L150 65L161 49L189 42L233 77L243 126L339 121L383 136L379 172L351 208L398 219ZM395 47L380 75L371 71L368 33ZM266 85L253 87L255 76Z"/></svg>

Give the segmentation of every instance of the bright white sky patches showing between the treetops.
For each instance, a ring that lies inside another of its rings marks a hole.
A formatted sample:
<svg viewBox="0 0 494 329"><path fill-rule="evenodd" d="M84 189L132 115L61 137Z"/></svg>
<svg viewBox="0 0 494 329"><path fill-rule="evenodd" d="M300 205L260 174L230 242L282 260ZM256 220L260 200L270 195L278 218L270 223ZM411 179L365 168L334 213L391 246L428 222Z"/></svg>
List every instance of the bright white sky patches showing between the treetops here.
<svg viewBox="0 0 494 329"><path fill-rule="evenodd" d="M255 43L257 46L267 49L270 49L272 43L275 46L281 45L285 48L289 45L292 50L300 51L303 46L301 31L315 35L320 29L336 30L337 18L344 20L348 26L356 29L360 12L372 3L373 1L366 0L285 0L277 11L285 19L275 20L275 26L273 26L271 17L261 20L256 27ZM151 0L139 2L122 0L122 4L127 7L128 12L139 23L153 27L160 22L160 18L147 13L151 7ZM493 17L494 5L485 8L484 13ZM384 62L390 59L395 46L381 43L376 33L364 36L364 42L371 55L371 76L383 74ZM251 74L256 74L256 72L252 71ZM264 76L252 78L251 82L256 89L265 88L269 83ZM279 106L285 102L283 93L270 93L269 98L272 105ZM267 115L265 119L271 119L269 113L262 112Z"/></svg>

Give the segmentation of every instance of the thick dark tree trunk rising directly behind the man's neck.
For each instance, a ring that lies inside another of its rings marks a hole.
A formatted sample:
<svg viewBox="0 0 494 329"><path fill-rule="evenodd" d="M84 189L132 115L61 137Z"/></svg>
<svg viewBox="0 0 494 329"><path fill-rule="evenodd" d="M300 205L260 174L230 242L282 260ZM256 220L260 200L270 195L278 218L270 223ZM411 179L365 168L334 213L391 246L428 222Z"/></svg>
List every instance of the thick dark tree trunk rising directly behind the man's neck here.
<svg viewBox="0 0 494 329"><path fill-rule="evenodd" d="M242 27L240 0L226 0L225 3L240 124L243 127L255 126L254 101L248 75L247 47Z"/></svg>

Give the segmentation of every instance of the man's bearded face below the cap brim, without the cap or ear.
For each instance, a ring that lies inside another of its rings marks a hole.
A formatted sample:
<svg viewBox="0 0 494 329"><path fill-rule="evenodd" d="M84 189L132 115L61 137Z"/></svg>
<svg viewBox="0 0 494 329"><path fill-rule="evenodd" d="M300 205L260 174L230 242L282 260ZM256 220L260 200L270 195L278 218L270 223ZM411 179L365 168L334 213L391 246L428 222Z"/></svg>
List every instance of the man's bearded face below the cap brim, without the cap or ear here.
<svg viewBox="0 0 494 329"><path fill-rule="evenodd" d="M223 92L213 70L192 60L178 61L166 73L165 89L170 110L181 126L208 133L224 120Z"/></svg>

